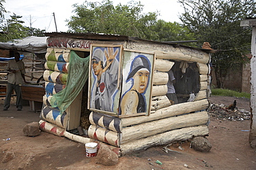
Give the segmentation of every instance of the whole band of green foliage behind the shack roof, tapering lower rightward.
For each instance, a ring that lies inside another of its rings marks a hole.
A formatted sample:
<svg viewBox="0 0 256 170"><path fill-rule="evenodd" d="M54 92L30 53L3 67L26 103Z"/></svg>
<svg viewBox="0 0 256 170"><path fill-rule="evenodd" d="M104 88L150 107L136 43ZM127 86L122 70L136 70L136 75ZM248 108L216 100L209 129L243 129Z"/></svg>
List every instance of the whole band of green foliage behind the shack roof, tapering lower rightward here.
<svg viewBox="0 0 256 170"><path fill-rule="evenodd" d="M158 12L143 14L140 2L113 6L106 0L102 3L85 1L74 4L74 16L68 21L68 32L97 32L127 35L154 41L191 40L193 34L179 23L157 20Z"/></svg>

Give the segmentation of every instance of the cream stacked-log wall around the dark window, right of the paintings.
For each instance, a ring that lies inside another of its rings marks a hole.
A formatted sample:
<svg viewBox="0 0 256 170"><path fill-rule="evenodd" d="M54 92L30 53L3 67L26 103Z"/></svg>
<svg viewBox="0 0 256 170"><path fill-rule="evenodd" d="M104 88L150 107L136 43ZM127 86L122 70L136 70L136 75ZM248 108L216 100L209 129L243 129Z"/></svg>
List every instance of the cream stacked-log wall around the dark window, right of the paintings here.
<svg viewBox="0 0 256 170"><path fill-rule="evenodd" d="M208 135L207 100L208 62L210 56L201 50L156 45L149 52L156 54L154 61L151 114L140 117L111 117L92 112L89 119L89 137L120 147L121 154L148 147L188 140L194 136ZM134 42L127 48L144 50L149 44ZM154 49L152 49L154 48ZM164 49L164 50L163 50ZM167 93L167 72L174 62L196 62L200 74L200 90L193 102L171 105Z"/></svg>

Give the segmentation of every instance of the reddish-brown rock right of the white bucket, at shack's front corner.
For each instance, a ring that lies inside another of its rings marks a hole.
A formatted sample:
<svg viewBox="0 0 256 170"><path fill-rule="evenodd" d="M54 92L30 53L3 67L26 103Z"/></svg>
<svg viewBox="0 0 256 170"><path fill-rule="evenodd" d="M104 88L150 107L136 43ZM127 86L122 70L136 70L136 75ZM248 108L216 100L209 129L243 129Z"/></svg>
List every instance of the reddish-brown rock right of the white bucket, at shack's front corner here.
<svg viewBox="0 0 256 170"><path fill-rule="evenodd" d="M100 143L100 149L96 156L96 163L106 166L115 165L118 163L118 155L106 144Z"/></svg>

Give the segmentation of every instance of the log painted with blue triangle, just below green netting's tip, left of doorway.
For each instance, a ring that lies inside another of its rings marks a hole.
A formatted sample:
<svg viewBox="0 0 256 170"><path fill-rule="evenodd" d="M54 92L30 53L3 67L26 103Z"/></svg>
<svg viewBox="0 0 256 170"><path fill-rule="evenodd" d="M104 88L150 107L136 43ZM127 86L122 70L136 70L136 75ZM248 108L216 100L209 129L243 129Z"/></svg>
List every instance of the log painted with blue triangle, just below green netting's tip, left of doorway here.
<svg viewBox="0 0 256 170"><path fill-rule="evenodd" d="M51 122L52 124L56 124L57 126L60 126L66 129L67 121L68 121L66 112L61 114L60 110L58 110L57 108L45 106L41 111L41 117L42 119L48 122Z"/></svg>

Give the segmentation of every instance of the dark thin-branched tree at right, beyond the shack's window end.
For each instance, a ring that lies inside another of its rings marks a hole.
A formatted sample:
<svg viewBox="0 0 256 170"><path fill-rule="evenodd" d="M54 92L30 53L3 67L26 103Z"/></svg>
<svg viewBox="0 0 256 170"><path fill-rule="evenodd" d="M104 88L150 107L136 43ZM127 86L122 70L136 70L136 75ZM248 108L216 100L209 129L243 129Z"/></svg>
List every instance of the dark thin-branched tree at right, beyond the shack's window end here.
<svg viewBox="0 0 256 170"><path fill-rule="evenodd" d="M181 21L194 32L201 46L208 41L217 53L212 54L217 87L223 88L225 78L248 62L250 28L241 28L240 21L256 16L255 0L179 0Z"/></svg>

